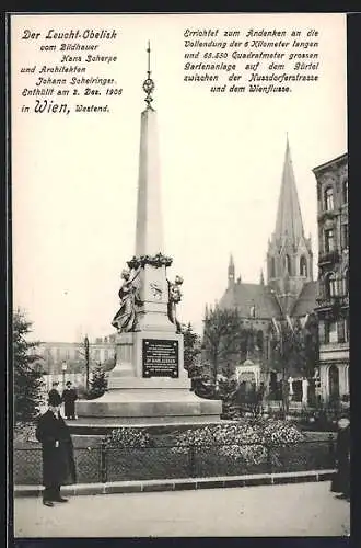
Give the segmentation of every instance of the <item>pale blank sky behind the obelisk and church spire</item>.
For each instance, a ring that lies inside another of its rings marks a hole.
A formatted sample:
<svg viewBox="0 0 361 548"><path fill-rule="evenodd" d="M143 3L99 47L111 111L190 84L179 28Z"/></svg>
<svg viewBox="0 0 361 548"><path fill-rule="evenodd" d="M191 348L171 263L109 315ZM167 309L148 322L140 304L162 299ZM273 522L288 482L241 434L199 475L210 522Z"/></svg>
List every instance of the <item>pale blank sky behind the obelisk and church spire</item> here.
<svg viewBox="0 0 361 548"><path fill-rule="evenodd" d="M109 113L22 112L31 100L21 91L36 78L21 68L60 65L59 52L40 52L24 30L78 27L117 31L100 50L117 61L93 64L89 73L114 78L121 95L109 99ZM316 28L319 81L286 95L217 94L184 82L184 31L203 27ZM226 288L230 253L243 282L258 283L260 269L266 277L287 133L317 256L312 169L347 151L345 14L15 15L11 32L13 305L26 311L35 339L114 332L119 274L135 254L148 39L167 274L184 278L180 321L200 331L206 304Z"/></svg>

